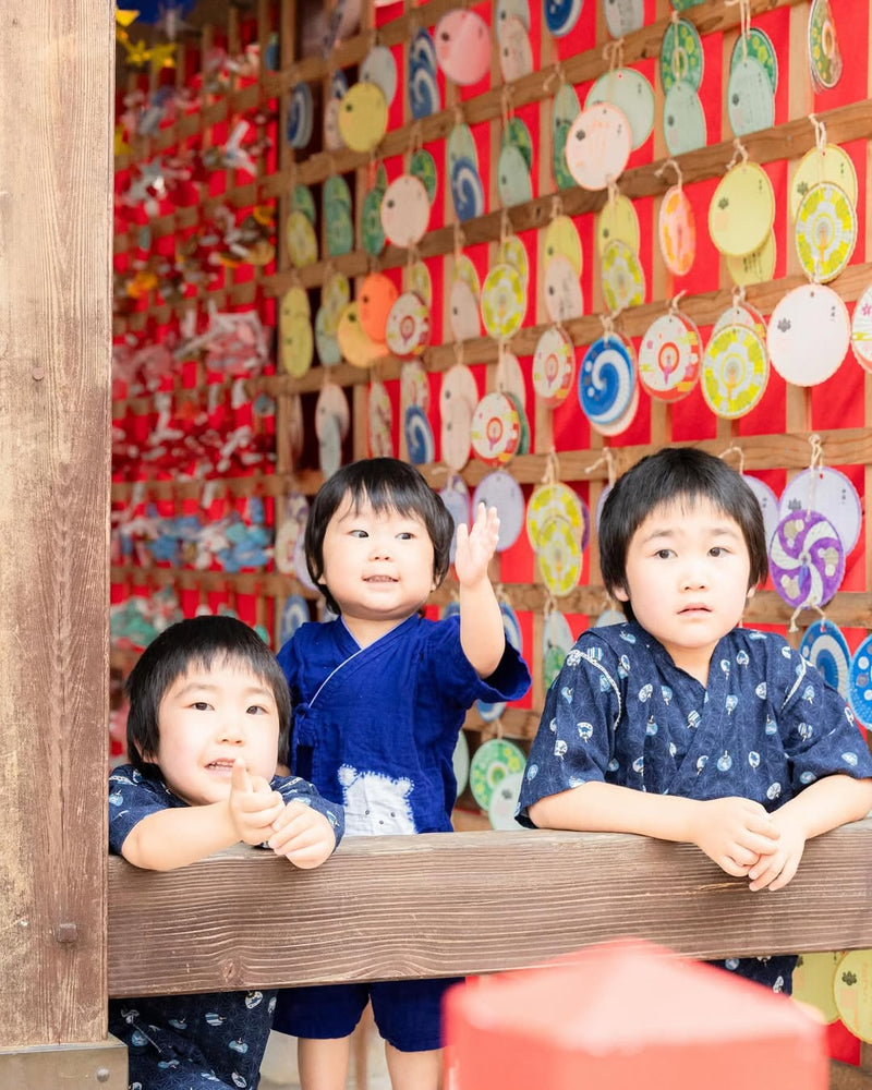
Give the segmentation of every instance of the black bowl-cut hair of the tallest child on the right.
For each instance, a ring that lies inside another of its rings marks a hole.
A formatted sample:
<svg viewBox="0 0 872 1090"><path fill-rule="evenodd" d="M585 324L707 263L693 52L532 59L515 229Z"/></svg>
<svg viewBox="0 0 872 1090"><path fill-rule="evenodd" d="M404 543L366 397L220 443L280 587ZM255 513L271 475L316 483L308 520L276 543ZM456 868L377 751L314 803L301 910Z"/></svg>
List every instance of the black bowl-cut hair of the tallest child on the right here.
<svg viewBox="0 0 872 1090"><path fill-rule="evenodd" d="M694 447L665 447L642 458L618 477L600 518L600 570L609 593L628 591L627 548L635 531L657 507L676 500L706 499L739 524L751 560L748 590L766 579L766 533L756 496L720 458ZM621 602L633 619L632 604Z"/></svg>

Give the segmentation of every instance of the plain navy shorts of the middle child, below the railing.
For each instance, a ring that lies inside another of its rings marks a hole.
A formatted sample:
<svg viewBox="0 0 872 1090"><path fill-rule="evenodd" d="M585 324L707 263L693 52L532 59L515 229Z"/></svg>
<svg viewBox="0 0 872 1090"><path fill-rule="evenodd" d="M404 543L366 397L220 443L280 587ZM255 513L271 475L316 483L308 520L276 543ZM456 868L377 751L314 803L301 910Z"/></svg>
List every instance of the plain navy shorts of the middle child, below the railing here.
<svg viewBox="0 0 872 1090"><path fill-rule="evenodd" d="M382 1037L400 1052L440 1049L443 995L462 977L388 980L375 984L318 984L279 992L272 1029L308 1040L348 1037L366 1004Z"/></svg>

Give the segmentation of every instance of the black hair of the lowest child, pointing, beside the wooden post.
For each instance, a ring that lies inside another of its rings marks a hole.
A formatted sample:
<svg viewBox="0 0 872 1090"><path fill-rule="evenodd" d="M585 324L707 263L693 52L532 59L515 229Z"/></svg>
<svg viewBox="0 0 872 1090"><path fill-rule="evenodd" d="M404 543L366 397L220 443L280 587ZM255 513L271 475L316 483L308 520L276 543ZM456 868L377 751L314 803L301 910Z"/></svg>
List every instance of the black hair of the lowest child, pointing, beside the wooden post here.
<svg viewBox="0 0 872 1090"><path fill-rule="evenodd" d="M291 694L276 656L261 637L235 617L192 617L171 625L140 656L126 681L128 759L144 776L159 775L146 758L158 753L160 702L192 666L231 664L250 670L272 690L279 716L279 759L284 760L291 724Z"/></svg>

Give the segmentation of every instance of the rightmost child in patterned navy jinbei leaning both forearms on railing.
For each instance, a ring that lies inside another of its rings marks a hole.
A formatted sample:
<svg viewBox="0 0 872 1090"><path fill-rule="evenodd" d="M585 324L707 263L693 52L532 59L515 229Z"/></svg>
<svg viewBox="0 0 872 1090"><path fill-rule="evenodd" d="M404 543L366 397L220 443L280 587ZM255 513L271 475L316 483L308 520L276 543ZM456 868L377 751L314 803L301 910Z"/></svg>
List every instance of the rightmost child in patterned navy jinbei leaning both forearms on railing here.
<svg viewBox="0 0 872 1090"><path fill-rule="evenodd" d="M695 844L749 888L780 889L809 838L867 814L872 759L800 654L737 627L767 570L754 494L718 458L661 450L606 497L600 556L627 621L567 656L519 820ZM789 992L795 961L718 964Z"/></svg>

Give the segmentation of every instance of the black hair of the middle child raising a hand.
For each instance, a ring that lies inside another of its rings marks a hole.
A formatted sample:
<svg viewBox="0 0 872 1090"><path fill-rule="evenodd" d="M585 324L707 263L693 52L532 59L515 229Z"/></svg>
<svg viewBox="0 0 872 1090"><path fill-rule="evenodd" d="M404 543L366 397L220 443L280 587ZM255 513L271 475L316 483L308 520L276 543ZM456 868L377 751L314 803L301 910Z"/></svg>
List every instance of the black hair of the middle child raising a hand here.
<svg viewBox="0 0 872 1090"><path fill-rule="evenodd" d="M312 501L306 521L304 544L308 573L335 614L340 611L339 606L322 582L324 535L330 519L347 499L351 500L352 509L368 502L377 514L397 511L419 516L433 542L433 581L437 586L441 583L451 562L455 535L455 520L441 496L408 462L397 458L364 458L343 465L325 481Z"/></svg>

